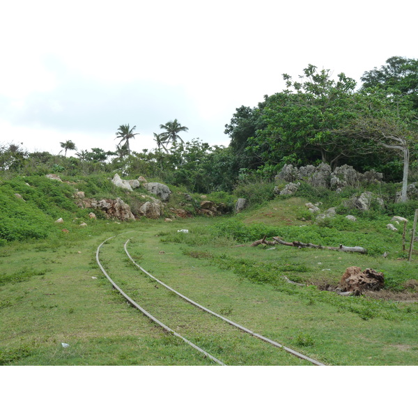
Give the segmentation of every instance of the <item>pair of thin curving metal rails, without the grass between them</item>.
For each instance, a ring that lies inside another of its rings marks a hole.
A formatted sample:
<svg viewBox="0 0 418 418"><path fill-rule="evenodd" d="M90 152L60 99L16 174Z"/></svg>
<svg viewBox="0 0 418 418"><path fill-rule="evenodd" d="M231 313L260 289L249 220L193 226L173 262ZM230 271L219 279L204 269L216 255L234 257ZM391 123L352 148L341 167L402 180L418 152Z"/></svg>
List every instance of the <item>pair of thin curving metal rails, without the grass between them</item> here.
<svg viewBox="0 0 418 418"><path fill-rule="evenodd" d="M130 231L132 232L132 231ZM123 235L123 234L120 234ZM111 279L111 277L109 276L108 272L106 270L104 270L102 263L100 263L100 249L102 247L102 245L104 245L104 243L108 242L109 240L111 240L112 238L115 238L116 236L119 235L114 235L113 237L108 238L107 240L104 240L102 242L102 244L99 245L97 251L96 251L96 261L100 267L100 270L102 270L103 274L105 277L107 277L107 279L110 281L111 285L119 292L121 293L121 295L123 295L123 297L125 297L125 299L127 300L128 303L130 303L132 305L132 307L135 307L137 309L139 309L139 311L141 311L145 316L147 316L148 318L150 318L150 320L153 320L153 322L157 323L157 325L159 325L160 327L162 327L163 330L165 330L166 332L169 332L170 334L173 334L174 336L177 336L178 338L182 339L185 343L187 343L189 346L192 346L192 348L194 348L195 350L198 350L203 356L208 357L212 360L212 362L215 362L216 364L219 365L225 365L224 362L222 362L220 359L217 359L217 357L215 357L214 355L211 355L210 353L208 353L207 350L204 350L203 348L197 346L195 343L193 343L192 341L189 341L189 339L186 339L184 336L182 336L181 334L179 334L178 332L174 331L172 328L170 328L168 325L164 324L162 322L162 320L159 320L157 318L155 318L155 316L153 316L152 314L150 314L148 311L146 311L146 309L144 309L144 307L141 307L137 302L135 302L132 297L130 297L129 295L127 295L127 293L125 293L125 291L122 290L122 288L120 286L118 286L115 281L113 279ZM309 362L310 364L314 364L316 366L324 366L325 364L318 362L316 359L311 359L310 357L307 357L306 355L303 355L302 353L298 353L297 351L288 348L286 346L283 346L281 343L278 343L277 341L273 341L271 339L266 338L265 336L258 334L254 331L249 330L247 327L244 327L238 323L234 323L232 320L229 320L228 318L225 318L222 315L217 314L214 311L211 311L210 309L203 307L201 304L194 302L194 300L189 299L189 297L186 297L185 295L182 295L181 293L179 293L178 291L176 291L175 289L171 288L170 286L168 286L167 284L164 284L163 281L157 279L156 277L154 277L152 274L150 274L149 272L147 272L144 268L141 267L141 265L139 265L136 261L134 261L134 258L132 258L131 254L129 253L129 251L127 250L127 245L130 242L130 239L128 239L125 242L125 245L123 246L124 250L125 250L125 254L126 256L130 259L130 262L132 263L132 265L134 265L136 268L139 268L139 270L141 270L141 272L144 272L144 274L146 274L148 277L150 277L150 279L152 279L153 281L155 281L157 284L160 284L161 286L164 286L164 288L166 288L172 295L176 295L180 298L180 300L185 300L186 302L188 302L189 306L191 305L194 308L198 308L199 311L205 311L207 314L210 314L211 316L217 318L217 323L219 323L220 321L222 321L222 323L227 324L227 326L230 328L235 327L238 330L240 330L241 332L245 333L245 334L249 334L250 336L254 336L255 339L261 340L265 343L268 343L270 346L274 346L275 348L280 348L281 350L286 351L286 353L293 355L295 357L298 357L299 359L302 359L306 362ZM155 288L157 288L157 285L154 286ZM178 298L177 298L178 299ZM142 303L142 302L141 302ZM193 320L193 318L192 318ZM219 321L220 320L220 321ZM189 323L189 320L187 320L187 323ZM183 326L183 325L180 325ZM217 327L219 327L219 325L217 325Z"/></svg>

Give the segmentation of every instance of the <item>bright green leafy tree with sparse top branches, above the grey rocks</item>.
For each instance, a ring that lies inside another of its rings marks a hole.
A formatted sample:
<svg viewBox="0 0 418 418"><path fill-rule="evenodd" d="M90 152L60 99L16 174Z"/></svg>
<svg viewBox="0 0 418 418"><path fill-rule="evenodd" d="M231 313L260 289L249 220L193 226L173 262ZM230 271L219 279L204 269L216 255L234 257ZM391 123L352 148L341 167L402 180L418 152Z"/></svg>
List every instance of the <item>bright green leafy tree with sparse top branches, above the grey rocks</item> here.
<svg viewBox="0 0 418 418"><path fill-rule="evenodd" d="M357 116L355 81L341 73L308 65L298 81L284 74L286 89L265 96L261 129L249 139L249 149L272 170L283 164L330 164L332 169L353 155L370 153L369 144L339 133Z"/></svg>

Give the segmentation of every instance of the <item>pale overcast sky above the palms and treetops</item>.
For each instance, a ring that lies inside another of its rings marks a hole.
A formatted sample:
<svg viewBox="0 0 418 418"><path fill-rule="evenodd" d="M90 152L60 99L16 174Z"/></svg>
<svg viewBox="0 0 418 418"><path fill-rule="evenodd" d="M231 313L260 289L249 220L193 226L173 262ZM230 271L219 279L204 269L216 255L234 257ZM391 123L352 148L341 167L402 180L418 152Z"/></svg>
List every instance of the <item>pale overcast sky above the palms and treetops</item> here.
<svg viewBox="0 0 418 418"><path fill-rule="evenodd" d="M115 150L129 124L139 152L176 118L183 140L228 146L235 109L283 90L283 73L311 63L360 82L391 56L416 59L417 11L412 0L3 1L0 144Z"/></svg>

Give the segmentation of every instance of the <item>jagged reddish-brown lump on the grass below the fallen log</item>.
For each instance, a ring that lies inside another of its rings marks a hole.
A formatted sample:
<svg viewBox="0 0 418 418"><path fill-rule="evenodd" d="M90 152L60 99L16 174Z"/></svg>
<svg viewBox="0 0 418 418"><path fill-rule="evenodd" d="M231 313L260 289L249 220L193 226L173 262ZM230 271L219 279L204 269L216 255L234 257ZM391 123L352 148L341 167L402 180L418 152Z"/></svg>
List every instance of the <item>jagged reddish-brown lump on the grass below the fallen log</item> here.
<svg viewBox="0 0 418 418"><path fill-rule="evenodd" d="M385 277L382 272L376 272L372 268L366 268L362 272L359 267L349 267L341 277L339 287L343 292L378 291L385 285Z"/></svg>

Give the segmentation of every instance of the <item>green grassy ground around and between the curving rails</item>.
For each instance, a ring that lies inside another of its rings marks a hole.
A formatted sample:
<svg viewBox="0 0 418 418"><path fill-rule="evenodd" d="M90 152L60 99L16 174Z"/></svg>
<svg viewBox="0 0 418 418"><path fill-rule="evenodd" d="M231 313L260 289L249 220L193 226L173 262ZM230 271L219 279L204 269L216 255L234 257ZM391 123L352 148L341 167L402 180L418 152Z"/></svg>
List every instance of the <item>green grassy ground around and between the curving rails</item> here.
<svg viewBox="0 0 418 418"><path fill-rule="evenodd" d="M49 240L6 243L0 247L0 364L213 364L130 307L98 269L95 249L100 242L127 231L132 232L102 247L102 263L112 279L151 314L226 364L307 363L220 323L157 285L127 260L127 238L132 237L128 248L137 262L169 286L320 362L418 364L416 303L340 297L316 287L323 281L338 282L348 266L358 265L385 271L388 290L403 291L405 282L416 277L417 261L407 263L396 256L401 235L391 235L394 241L388 242L386 231L380 233L372 223L369 238L376 246L392 246L388 258L236 247L234 233L241 231L240 242L248 241L252 237L245 234L262 231L257 224L272 230L302 229L297 212L301 202L273 201L271 207L222 219L144 219L132 224L98 220L86 229L69 227L69 233ZM232 232L226 233L229 222ZM362 233L362 227L352 232ZM341 225L324 229L348 236ZM308 286L288 284L284 275Z"/></svg>

